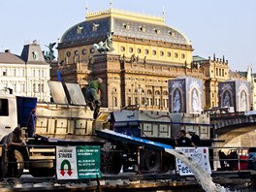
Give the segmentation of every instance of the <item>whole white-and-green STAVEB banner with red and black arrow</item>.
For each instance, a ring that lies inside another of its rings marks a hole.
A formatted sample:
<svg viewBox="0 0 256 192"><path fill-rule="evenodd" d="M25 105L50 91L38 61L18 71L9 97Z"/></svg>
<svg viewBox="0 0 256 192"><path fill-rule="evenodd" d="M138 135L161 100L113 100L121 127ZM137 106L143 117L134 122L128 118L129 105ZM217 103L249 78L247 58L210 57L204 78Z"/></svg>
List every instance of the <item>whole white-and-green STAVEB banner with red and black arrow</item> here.
<svg viewBox="0 0 256 192"><path fill-rule="evenodd" d="M56 146L57 179L101 177L100 146Z"/></svg>

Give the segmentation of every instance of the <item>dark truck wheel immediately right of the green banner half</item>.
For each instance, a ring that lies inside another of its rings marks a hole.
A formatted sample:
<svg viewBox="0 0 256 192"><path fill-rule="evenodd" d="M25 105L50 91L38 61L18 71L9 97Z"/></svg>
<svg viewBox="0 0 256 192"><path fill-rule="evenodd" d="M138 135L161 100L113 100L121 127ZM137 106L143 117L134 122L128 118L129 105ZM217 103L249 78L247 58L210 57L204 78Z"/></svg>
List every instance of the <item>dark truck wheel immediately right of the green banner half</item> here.
<svg viewBox="0 0 256 192"><path fill-rule="evenodd" d="M119 174L122 167L122 156L116 151L101 152L101 172L103 174Z"/></svg>

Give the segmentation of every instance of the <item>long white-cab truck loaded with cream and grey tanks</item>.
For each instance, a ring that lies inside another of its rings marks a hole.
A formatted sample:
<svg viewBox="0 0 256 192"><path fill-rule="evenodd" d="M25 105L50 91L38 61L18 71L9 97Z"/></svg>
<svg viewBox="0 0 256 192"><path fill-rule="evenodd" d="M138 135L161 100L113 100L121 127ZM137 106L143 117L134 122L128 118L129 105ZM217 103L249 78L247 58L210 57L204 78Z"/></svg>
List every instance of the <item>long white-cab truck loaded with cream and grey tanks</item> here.
<svg viewBox="0 0 256 192"><path fill-rule="evenodd" d="M52 81L49 87L53 98L49 103L37 102L34 97L0 94L0 139L20 126L25 142L15 151L17 176L24 170L32 176L54 176L57 145L100 145L103 174L118 174L121 170L167 172L175 169L174 156L151 143L172 146L180 129L193 128L205 141L211 137L205 114L102 109L93 119L78 84ZM37 120L31 127L28 122L33 111ZM28 134L31 129L35 131L32 136ZM129 136L129 140L123 136ZM138 138L150 144L138 143ZM5 144L0 146L2 176L7 176L7 150Z"/></svg>

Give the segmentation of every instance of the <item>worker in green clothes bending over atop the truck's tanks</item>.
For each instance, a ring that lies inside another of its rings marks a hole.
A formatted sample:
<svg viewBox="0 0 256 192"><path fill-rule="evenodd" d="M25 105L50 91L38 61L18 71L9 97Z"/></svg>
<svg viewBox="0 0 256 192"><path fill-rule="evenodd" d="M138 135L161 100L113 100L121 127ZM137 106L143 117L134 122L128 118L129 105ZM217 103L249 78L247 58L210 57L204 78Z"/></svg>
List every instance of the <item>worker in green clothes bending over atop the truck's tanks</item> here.
<svg viewBox="0 0 256 192"><path fill-rule="evenodd" d="M102 79L92 80L86 89L85 100L96 119L101 108Z"/></svg>

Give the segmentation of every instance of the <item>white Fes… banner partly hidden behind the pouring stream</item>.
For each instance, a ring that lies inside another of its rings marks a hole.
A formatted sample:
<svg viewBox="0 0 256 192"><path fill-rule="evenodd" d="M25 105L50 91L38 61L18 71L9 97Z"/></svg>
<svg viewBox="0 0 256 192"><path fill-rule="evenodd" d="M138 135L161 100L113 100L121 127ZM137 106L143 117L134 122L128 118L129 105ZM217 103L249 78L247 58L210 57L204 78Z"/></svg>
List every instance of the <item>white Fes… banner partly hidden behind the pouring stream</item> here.
<svg viewBox="0 0 256 192"><path fill-rule="evenodd" d="M209 160L208 160L208 147L176 147L177 150L182 152L192 161L196 162L203 168L209 175L211 174ZM193 176L194 174L189 168L182 162L182 159L176 158L176 168L180 176Z"/></svg>

